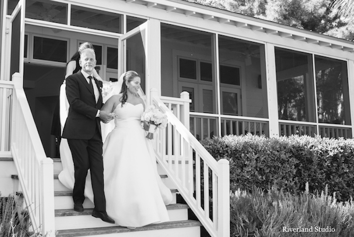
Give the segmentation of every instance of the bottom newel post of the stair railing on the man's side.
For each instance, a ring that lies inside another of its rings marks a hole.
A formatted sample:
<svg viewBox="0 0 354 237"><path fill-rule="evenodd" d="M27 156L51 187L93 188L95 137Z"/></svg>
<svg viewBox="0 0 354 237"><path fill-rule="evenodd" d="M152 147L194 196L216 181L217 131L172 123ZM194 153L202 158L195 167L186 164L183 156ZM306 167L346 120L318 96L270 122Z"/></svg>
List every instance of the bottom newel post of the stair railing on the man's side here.
<svg viewBox="0 0 354 237"><path fill-rule="evenodd" d="M42 216L42 235L48 237L55 236L54 222L54 174L53 160L49 157L40 162L40 184L41 191L41 216Z"/></svg>

